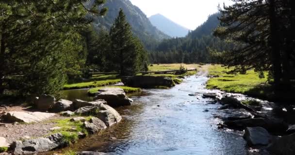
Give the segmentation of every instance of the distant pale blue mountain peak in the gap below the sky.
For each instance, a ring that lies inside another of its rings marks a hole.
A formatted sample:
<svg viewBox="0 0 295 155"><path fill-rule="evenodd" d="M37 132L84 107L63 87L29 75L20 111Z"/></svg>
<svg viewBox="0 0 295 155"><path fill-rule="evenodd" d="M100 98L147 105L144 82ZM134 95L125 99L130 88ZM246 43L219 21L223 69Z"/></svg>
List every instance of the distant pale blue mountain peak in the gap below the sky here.
<svg viewBox="0 0 295 155"><path fill-rule="evenodd" d="M185 37L189 32L189 29L184 28L161 14L150 16L148 19L152 25L171 37Z"/></svg>

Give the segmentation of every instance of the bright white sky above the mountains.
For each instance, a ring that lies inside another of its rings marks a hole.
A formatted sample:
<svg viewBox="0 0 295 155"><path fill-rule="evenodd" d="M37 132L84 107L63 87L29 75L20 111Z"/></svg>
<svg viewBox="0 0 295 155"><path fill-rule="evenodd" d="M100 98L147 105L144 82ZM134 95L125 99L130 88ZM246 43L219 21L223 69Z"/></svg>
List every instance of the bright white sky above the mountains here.
<svg viewBox="0 0 295 155"><path fill-rule="evenodd" d="M130 0L148 17L162 14L190 30L195 30L217 12L217 6L231 4L231 0Z"/></svg>

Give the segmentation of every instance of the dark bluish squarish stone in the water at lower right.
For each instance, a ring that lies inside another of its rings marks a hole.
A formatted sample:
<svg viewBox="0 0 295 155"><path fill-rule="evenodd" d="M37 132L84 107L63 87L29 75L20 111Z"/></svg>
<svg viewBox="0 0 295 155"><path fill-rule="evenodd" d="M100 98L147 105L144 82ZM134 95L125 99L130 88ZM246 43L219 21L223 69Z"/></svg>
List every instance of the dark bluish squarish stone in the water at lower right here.
<svg viewBox="0 0 295 155"><path fill-rule="evenodd" d="M263 127L246 127L244 139L248 146L268 145L272 137Z"/></svg>

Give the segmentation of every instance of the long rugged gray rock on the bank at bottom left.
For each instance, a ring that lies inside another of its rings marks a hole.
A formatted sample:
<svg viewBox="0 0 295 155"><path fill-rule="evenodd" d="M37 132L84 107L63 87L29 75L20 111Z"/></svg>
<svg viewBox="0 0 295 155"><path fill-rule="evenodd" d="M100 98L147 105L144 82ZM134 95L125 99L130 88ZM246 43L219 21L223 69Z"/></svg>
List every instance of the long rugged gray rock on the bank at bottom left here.
<svg viewBox="0 0 295 155"><path fill-rule="evenodd" d="M10 149L14 155L32 154L39 152L47 152L58 147L64 146L63 135L54 134L46 138L37 138L33 140L16 140Z"/></svg>

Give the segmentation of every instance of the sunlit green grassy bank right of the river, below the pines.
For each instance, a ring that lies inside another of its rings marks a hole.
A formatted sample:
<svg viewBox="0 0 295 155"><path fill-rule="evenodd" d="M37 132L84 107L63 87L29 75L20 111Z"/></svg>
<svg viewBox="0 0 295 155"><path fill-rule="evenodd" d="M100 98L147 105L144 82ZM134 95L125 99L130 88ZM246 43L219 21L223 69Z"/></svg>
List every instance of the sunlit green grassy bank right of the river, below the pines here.
<svg viewBox="0 0 295 155"><path fill-rule="evenodd" d="M264 73L265 78L259 78L259 73L254 70L249 70L246 74L227 74L232 68L222 67L221 65L210 65L209 76L207 82L208 89L219 89L229 93L243 93L255 97L269 98L272 95L270 85L266 83L267 73Z"/></svg>

